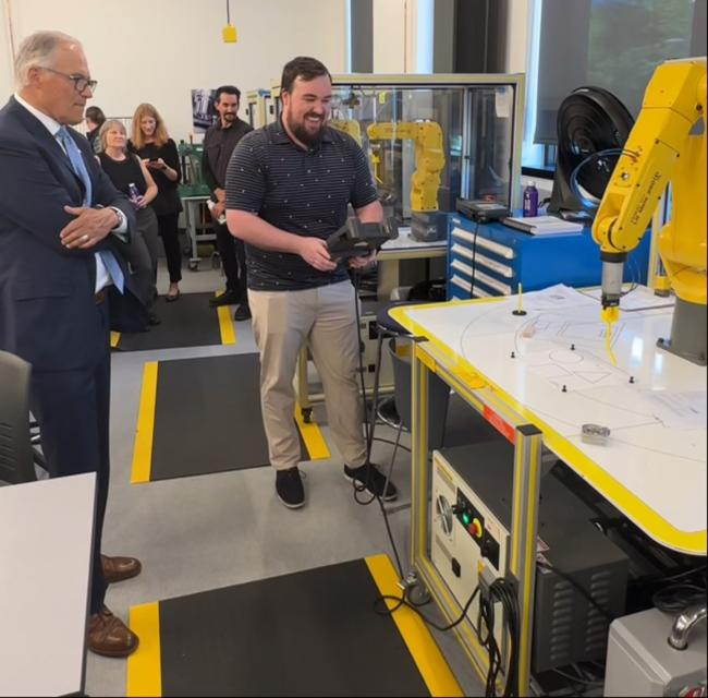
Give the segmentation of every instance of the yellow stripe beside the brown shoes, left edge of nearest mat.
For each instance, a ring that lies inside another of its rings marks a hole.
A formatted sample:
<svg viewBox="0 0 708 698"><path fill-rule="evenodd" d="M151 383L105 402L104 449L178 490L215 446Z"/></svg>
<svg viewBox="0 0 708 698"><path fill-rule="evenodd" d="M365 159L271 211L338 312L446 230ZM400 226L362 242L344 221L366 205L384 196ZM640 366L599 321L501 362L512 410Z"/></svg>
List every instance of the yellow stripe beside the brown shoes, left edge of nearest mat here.
<svg viewBox="0 0 708 698"><path fill-rule="evenodd" d="M129 614L129 626L141 638L141 643L127 658L125 695L161 696L159 603L133 606Z"/></svg>

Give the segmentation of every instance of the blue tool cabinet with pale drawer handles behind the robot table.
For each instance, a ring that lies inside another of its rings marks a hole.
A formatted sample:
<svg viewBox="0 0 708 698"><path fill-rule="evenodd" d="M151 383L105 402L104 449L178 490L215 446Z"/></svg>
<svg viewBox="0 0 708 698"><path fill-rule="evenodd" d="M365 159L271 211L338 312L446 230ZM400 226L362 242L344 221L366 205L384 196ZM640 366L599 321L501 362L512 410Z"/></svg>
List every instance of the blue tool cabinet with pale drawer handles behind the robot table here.
<svg viewBox="0 0 708 698"><path fill-rule="evenodd" d="M646 284L650 236L624 266L625 281ZM477 225L460 215L448 222L448 300L510 296L554 284L599 286L600 249L590 229L532 236L502 224Z"/></svg>

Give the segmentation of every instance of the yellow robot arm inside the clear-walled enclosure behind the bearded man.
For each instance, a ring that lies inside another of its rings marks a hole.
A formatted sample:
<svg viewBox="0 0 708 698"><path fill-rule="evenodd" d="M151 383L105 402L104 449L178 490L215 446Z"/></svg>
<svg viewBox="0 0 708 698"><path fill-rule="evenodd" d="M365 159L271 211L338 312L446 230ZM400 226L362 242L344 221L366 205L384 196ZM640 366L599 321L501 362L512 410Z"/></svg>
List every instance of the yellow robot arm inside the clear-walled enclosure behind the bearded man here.
<svg viewBox="0 0 708 698"><path fill-rule="evenodd" d="M411 209L438 210L440 172L445 165L442 129L436 121L396 121L371 123L366 129L369 142L415 141L416 170L411 178Z"/></svg>

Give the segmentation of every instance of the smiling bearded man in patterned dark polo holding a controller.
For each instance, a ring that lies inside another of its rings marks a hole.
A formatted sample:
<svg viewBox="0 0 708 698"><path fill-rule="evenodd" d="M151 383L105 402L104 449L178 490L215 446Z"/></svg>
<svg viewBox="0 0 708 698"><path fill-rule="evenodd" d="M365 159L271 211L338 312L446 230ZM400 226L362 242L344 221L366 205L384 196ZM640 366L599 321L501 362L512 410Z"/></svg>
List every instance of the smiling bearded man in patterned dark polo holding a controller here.
<svg viewBox="0 0 708 698"><path fill-rule="evenodd" d="M293 376L309 342L322 380L329 425L347 479L383 500L395 488L366 459L356 369L354 287L345 262L326 239L346 222L351 203L364 222L383 212L366 156L355 141L327 127L332 83L314 58L283 69L282 118L241 141L227 173L227 218L246 242L248 300L260 351L260 398L276 492L290 508L305 504L293 420ZM363 268L374 255L354 258Z"/></svg>

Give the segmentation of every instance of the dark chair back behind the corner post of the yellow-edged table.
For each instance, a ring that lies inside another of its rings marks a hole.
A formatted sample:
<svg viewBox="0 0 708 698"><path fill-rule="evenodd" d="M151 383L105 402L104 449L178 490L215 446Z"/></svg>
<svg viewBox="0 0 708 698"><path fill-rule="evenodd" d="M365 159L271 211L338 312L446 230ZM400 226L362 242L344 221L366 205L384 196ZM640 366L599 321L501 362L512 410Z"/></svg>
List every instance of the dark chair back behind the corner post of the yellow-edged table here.
<svg viewBox="0 0 708 698"><path fill-rule="evenodd" d="M401 341L411 344L410 339ZM393 365L395 407L403 429L411 431L413 408L411 358L396 351L396 338L389 339L389 354ZM434 373L428 374L428 449L442 447L450 402L450 386Z"/></svg>

